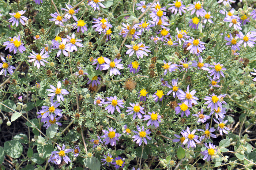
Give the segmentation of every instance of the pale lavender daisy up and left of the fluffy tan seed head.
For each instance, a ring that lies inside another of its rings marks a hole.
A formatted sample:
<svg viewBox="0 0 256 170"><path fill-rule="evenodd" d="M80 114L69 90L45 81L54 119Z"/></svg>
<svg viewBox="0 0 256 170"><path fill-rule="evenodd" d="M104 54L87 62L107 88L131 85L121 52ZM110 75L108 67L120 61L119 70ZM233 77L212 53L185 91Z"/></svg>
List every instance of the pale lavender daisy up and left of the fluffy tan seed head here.
<svg viewBox="0 0 256 170"><path fill-rule="evenodd" d="M117 75L117 74L121 75L120 71L118 71L117 68L119 69L124 68L123 67L124 64L118 64L122 61L122 59L117 60L117 58L115 58L114 61L110 61L108 58L104 58L104 60L106 64L102 64L103 70L107 70L110 67L110 72L109 72L110 76L112 76L113 73L114 75Z"/></svg>

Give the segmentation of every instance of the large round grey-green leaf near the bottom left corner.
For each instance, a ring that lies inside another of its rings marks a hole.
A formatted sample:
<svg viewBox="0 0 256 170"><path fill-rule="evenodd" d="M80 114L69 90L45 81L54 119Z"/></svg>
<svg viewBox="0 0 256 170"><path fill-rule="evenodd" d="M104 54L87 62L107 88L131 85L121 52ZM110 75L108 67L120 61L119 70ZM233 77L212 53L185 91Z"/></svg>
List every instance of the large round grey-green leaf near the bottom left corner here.
<svg viewBox="0 0 256 170"><path fill-rule="evenodd" d="M16 140L6 141L4 151L12 158L19 158L23 151L23 146Z"/></svg>

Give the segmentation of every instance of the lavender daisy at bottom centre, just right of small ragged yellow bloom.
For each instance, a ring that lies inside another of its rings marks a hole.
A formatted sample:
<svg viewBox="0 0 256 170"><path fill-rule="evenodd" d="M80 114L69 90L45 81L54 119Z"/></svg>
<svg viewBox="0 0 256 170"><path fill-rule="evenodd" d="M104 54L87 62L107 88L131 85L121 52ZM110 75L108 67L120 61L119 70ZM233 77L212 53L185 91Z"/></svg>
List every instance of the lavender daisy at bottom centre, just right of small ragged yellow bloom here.
<svg viewBox="0 0 256 170"><path fill-rule="evenodd" d="M134 138L133 141L136 141L136 140L137 140L136 143L139 144L139 146L142 144L142 140L144 141L145 144L147 144L147 139L148 139L148 140L151 140L151 138L150 138L149 136L147 136L147 135L149 135L151 132L149 131L149 129L147 129L147 130L145 131L144 126L142 126L142 129L140 129L140 126L139 126L139 125L137 125L136 127L137 127L137 130L138 130L139 132L137 132L137 131L132 131L132 132L138 134L138 135L132 136L132 139ZM146 139L146 138L147 138L147 139Z"/></svg>

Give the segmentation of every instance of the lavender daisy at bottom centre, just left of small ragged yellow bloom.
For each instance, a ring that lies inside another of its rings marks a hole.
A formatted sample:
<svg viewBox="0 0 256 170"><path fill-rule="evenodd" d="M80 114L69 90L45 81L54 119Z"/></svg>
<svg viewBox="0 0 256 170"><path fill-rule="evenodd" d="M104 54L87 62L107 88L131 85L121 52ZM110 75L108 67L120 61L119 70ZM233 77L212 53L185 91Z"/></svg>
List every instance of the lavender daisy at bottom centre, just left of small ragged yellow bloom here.
<svg viewBox="0 0 256 170"><path fill-rule="evenodd" d="M121 135L119 133L116 133L116 129L113 130L113 128L109 128L108 127L108 130L109 131L106 131L106 130L102 130L102 132L105 134L101 137L106 137L103 142L105 142L105 144L109 144L111 146L116 146L116 140L119 141L118 137L120 137Z"/></svg>

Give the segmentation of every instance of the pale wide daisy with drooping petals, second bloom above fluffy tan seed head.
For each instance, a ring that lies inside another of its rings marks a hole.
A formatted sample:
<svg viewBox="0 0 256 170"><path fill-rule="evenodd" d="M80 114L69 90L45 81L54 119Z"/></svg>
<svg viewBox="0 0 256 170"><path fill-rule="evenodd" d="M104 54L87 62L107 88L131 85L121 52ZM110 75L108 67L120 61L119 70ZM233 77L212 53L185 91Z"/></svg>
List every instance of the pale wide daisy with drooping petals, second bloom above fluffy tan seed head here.
<svg viewBox="0 0 256 170"><path fill-rule="evenodd" d="M144 46L144 44L142 42L140 42L137 45L125 45L125 46L127 48L131 48L131 49L127 50L127 52L126 52L126 54L129 54L129 57L131 57L134 52L136 52L136 56L138 59L143 58L143 55L148 56L148 54L146 52L151 53L150 50L146 49L147 47Z"/></svg>

